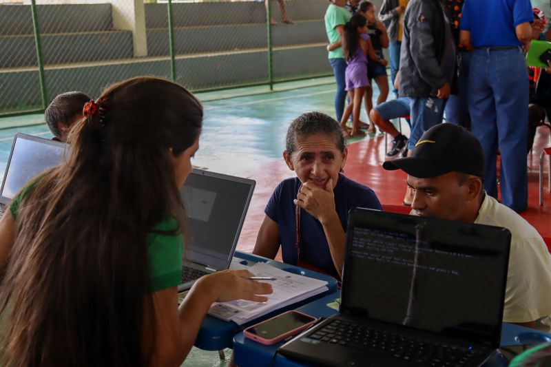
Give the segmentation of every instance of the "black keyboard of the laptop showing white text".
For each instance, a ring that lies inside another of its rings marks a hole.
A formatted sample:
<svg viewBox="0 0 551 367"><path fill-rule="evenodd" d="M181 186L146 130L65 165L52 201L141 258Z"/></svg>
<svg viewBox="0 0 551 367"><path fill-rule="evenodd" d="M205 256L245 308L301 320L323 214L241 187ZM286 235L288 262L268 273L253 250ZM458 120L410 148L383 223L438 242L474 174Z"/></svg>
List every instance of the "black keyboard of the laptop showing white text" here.
<svg viewBox="0 0 551 367"><path fill-rule="evenodd" d="M426 366L464 366L479 355L472 349L424 342L340 320L333 320L309 338L350 348L375 349Z"/></svg>

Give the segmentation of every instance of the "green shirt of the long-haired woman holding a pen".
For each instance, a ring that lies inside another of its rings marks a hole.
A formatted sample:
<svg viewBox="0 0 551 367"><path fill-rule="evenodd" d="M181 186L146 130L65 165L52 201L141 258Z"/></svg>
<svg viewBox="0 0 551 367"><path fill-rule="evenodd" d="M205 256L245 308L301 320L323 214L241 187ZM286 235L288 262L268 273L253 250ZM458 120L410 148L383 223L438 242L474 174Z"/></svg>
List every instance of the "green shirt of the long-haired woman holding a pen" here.
<svg viewBox="0 0 551 367"><path fill-rule="evenodd" d="M13 198L10 204L13 218L17 218L17 209L21 205L21 200L34 187L35 183L36 181L31 182L19 195ZM178 228L178 221L173 217L167 217L147 233L146 243L149 270L151 271L152 293L182 283L182 233L180 231L176 234L156 233L157 231L174 231L176 228Z"/></svg>

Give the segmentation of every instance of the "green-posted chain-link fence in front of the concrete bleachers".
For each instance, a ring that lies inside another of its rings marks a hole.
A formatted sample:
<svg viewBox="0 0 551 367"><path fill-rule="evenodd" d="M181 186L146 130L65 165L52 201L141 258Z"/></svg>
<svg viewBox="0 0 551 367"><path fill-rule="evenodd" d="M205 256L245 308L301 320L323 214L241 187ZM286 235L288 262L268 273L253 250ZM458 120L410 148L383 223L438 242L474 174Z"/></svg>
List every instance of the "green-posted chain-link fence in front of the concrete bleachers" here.
<svg viewBox="0 0 551 367"><path fill-rule="evenodd" d="M96 97L138 75L173 78L195 92L331 75L328 5L0 0L0 116L38 112L72 90Z"/></svg>

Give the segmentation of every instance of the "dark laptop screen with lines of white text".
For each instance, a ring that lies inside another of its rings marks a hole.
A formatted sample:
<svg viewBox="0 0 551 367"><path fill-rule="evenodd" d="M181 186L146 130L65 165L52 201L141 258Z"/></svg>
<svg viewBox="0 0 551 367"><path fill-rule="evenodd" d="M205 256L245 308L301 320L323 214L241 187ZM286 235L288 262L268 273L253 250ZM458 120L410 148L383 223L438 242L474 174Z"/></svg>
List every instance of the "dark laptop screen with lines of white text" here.
<svg viewBox="0 0 551 367"><path fill-rule="evenodd" d="M342 312L499 345L508 230L355 209L347 235Z"/></svg>

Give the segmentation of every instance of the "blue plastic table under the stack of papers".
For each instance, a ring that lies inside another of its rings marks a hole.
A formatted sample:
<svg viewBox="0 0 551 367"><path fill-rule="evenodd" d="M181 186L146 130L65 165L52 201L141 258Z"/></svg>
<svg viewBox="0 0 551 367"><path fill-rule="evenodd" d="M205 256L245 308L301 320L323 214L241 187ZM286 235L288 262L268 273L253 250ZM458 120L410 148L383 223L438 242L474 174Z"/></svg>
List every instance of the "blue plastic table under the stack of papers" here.
<svg viewBox="0 0 551 367"><path fill-rule="evenodd" d="M334 293L335 291L337 291L337 280L329 275L316 273L315 271L303 269L298 266L284 264L283 262L262 258L261 256L252 255L250 253L244 253L241 251L236 251L236 253L233 255L233 259L234 260L232 262L232 266L230 266L230 269L235 267L235 264L239 264L241 266L252 266L257 262L266 262L267 264L270 264L284 271L289 271L290 273L300 274L306 277L313 277L319 280L325 280L328 283L327 288L329 288L329 291L320 293L319 295L314 295L296 304L280 308L277 311L273 311L272 313L269 313L262 317L258 317L258 319L254 319L253 321L243 325L238 325L235 322L223 321L221 319L217 319L216 317L207 315L207 317L205 317L205 320L203 320L202 322L199 334L197 335L197 339L194 344L197 348L204 350L222 350L225 348L231 348L233 335L236 335L243 329L247 328L247 326L257 324L264 319L269 319L270 317L278 315L279 313L282 313L284 311L293 310L304 304L309 304L313 302L313 300L324 297L324 295L328 293Z"/></svg>

